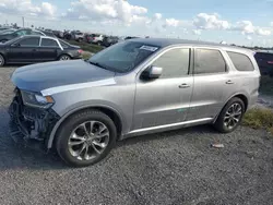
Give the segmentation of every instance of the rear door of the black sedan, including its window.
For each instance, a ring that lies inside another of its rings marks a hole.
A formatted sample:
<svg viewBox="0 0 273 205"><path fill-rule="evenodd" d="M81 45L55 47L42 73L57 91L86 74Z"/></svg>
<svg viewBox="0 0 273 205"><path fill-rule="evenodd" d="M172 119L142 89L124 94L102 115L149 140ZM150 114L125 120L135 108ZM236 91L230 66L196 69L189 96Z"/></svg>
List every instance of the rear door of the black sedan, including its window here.
<svg viewBox="0 0 273 205"><path fill-rule="evenodd" d="M57 40L41 37L38 59L41 62L57 60L59 50L60 46Z"/></svg>

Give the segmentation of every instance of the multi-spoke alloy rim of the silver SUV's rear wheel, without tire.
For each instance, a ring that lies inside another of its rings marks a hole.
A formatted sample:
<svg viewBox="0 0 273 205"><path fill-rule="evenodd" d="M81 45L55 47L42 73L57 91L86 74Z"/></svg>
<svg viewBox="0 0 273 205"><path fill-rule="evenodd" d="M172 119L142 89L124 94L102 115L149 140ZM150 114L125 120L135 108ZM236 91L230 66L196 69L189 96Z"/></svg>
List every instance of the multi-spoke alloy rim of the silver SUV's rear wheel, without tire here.
<svg viewBox="0 0 273 205"><path fill-rule="evenodd" d="M240 121L242 114L241 105L238 102L233 104L226 111L224 117L224 125L232 130L234 129Z"/></svg>

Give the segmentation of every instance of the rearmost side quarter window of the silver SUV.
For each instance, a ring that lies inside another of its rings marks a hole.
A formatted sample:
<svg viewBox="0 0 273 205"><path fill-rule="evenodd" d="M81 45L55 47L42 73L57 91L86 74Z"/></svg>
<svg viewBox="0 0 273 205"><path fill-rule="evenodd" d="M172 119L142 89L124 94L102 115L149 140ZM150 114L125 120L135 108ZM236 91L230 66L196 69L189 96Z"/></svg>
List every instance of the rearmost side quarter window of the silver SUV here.
<svg viewBox="0 0 273 205"><path fill-rule="evenodd" d="M254 70L254 67L251 60L246 55L238 53L238 52L230 52L230 51L228 51L227 55L232 59L236 70L238 71L253 71Z"/></svg>

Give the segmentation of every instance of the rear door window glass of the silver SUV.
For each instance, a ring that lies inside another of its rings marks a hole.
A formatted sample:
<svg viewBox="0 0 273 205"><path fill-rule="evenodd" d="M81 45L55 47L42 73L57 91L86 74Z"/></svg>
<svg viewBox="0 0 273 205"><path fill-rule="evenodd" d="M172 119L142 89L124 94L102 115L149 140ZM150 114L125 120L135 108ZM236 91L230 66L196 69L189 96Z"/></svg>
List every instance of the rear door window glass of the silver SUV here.
<svg viewBox="0 0 273 205"><path fill-rule="evenodd" d="M195 49L194 74L213 74L223 72L226 72L226 62L219 50Z"/></svg>

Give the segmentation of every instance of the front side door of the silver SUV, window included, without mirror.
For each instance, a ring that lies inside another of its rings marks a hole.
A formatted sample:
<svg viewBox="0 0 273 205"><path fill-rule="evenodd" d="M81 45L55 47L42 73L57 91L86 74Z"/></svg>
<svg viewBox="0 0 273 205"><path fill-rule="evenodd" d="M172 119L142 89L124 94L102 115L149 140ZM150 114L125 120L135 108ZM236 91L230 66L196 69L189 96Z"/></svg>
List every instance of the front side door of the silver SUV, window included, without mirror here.
<svg viewBox="0 0 273 205"><path fill-rule="evenodd" d="M163 69L156 80L136 79L132 130L167 125L186 120L193 77L189 75L190 49L173 48L152 63Z"/></svg>

